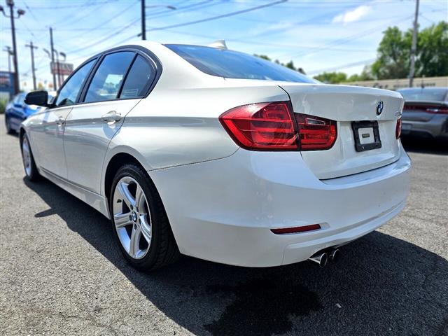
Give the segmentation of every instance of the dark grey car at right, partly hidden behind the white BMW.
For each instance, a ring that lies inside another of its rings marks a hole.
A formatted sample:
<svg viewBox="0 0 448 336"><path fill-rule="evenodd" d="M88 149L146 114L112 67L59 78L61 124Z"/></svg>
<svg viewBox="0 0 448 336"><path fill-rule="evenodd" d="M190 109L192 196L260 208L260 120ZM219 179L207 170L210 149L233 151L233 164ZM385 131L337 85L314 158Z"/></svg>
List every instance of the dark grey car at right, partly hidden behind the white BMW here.
<svg viewBox="0 0 448 336"><path fill-rule="evenodd" d="M398 92L405 98L403 136L448 140L448 87L409 87Z"/></svg>

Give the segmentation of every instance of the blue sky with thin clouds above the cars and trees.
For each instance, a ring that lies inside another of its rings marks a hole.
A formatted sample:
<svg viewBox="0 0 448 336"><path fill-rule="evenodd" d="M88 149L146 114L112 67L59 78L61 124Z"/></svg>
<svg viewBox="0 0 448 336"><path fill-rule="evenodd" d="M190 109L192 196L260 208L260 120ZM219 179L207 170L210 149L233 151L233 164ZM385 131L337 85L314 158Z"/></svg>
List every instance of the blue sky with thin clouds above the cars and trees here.
<svg viewBox="0 0 448 336"><path fill-rule="evenodd" d="M269 3L276 4L219 20L169 27ZM50 48L48 27L54 29L55 49L66 52L67 62L75 66L96 52L139 39L141 31L140 0L16 0L15 5L27 12L16 20L19 73L25 90L31 88L31 57L25 48L29 41L38 46L38 81L51 81L49 59L43 52ZM281 62L293 59L312 76L324 70L359 73L375 58L386 27L412 27L415 5L412 0L147 0L146 6L149 40L207 45L225 39L230 49L269 55ZM423 0L420 13L421 28L447 20L448 1ZM0 27L3 50L12 45L10 21L3 15ZM0 61L1 70L7 70L6 52L1 52Z"/></svg>

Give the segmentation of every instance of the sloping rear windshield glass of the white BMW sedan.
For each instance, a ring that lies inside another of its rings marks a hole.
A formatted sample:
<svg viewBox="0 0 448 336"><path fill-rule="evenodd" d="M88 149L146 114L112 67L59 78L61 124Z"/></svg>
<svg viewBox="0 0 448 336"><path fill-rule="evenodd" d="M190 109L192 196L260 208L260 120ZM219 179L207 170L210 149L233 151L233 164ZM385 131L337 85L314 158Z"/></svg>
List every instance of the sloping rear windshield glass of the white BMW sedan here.
<svg viewBox="0 0 448 336"><path fill-rule="evenodd" d="M243 52L199 45L166 44L165 46L196 66L200 71L212 76L318 83L300 72Z"/></svg>

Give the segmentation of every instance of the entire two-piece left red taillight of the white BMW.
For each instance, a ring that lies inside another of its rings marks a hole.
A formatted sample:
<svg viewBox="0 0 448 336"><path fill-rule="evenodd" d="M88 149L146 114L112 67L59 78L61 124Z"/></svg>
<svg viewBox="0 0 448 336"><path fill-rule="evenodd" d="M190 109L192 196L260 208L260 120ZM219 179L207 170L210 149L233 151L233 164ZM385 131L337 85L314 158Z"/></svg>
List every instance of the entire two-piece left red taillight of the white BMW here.
<svg viewBox="0 0 448 336"><path fill-rule="evenodd" d="M293 113L290 102L238 106L219 120L240 147L252 151L320 151L337 137L334 120Z"/></svg>

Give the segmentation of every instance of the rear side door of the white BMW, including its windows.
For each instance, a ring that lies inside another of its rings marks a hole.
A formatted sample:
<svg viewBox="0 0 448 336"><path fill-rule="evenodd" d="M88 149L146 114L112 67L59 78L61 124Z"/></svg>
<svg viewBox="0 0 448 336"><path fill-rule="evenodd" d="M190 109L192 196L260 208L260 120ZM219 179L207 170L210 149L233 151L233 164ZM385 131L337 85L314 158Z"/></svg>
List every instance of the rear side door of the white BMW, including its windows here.
<svg viewBox="0 0 448 336"><path fill-rule="evenodd" d="M83 104L74 106L66 120L64 149L71 183L100 193L109 143L154 77L151 59L132 50L102 57L85 88Z"/></svg>

